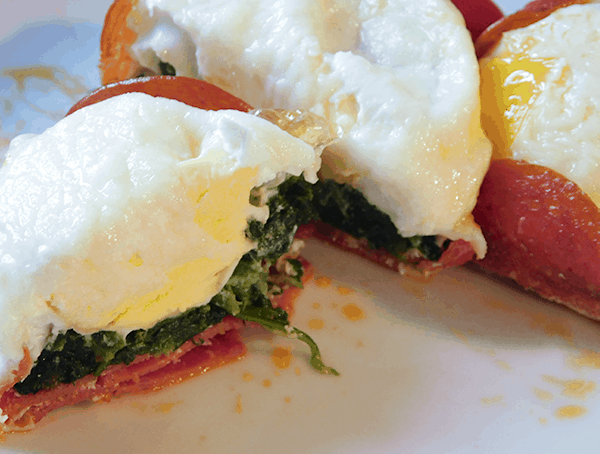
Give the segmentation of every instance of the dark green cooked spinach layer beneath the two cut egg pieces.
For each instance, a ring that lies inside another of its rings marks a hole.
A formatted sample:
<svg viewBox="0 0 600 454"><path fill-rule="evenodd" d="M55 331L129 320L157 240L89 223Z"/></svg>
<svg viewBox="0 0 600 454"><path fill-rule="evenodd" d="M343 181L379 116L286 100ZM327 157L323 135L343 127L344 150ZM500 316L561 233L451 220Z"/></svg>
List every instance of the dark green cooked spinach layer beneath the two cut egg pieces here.
<svg viewBox="0 0 600 454"><path fill-rule="evenodd" d="M273 308L269 299L269 267L289 251L298 226L320 220L357 238L366 238L371 247L386 249L399 258L418 249L435 261L444 250L433 236L403 238L389 216L369 204L359 190L332 180L313 185L303 177L289 177L267 203L267 222L248 222L246 234L256 243L256 249L240 260L227 284L209 304L165 319L150 329L132 331L125 338L112 331L91 335L74 330L61 332L46 345L29 376L15 385L16 391L35 393L89 374L99 375L113 364L130 364L137 355L168 354L227 314L305 342L311 350L312 366L322 373L337 375L323 364L315 342L306 333L290 327L287 313ZM294 273L287 283L301 286L302 266L293 259L288 261Z"/></svg>

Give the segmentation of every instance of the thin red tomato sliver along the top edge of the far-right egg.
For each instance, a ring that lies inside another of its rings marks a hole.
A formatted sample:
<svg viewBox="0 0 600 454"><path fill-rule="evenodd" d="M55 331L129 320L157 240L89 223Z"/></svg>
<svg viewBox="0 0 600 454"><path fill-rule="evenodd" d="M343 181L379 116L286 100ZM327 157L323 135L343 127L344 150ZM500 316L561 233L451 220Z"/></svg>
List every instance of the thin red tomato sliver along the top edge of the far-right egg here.
<svg viewBox="0 0 600 454"><path fill-rule="evenodd" d="M548 17L559 8L570 5L597 3L596 0L534 0L519 11L499 20L485 30L475 42L477 58L484 57L502 38L504 32L523 28Z"/></svg>

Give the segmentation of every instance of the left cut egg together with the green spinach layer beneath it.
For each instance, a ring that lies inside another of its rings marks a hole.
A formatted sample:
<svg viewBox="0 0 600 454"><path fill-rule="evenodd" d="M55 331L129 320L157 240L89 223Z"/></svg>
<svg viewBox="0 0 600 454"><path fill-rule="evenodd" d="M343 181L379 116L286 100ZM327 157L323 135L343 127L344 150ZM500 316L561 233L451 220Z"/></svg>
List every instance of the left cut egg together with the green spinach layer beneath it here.
<svg viewBox="0 0 600 454"><path fill-rule="evenodd" d="M0 180L2 387L29 357L17 397L210 345L240 326L228 316L305 341L333 373L272 304L302 279L302 213L290 205L281 222L278 186L314 182L333 138L304 120L291 122L298 139L247 113L134 93L13 141Z"/></svg>

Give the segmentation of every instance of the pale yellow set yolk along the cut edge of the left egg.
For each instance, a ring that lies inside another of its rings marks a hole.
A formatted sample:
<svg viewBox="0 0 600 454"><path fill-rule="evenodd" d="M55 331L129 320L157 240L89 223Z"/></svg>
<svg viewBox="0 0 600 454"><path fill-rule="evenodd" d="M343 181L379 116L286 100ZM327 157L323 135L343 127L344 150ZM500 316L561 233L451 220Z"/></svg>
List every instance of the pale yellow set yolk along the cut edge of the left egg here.
<svg viewBox="0 0 600 454"><path fill-rule="evenodd" d="M249 195L256 173L256 169L243 168L228 178L214 178L210 182L194 175L200 184L188 190L187 197L196 205L194 221L199 229L190 234L206 238L205 254L171 269L167 273L167 283L161 288L144 295L131 295L108 312L91 305L83 312L59 305L52 305L52 308L80 329L128 329L139 324L151 325L156 320L206 302L219 292L239 259L251 247L245 230ZM137 268L151 266L138 253L128 260L128 264Z"/></svg>

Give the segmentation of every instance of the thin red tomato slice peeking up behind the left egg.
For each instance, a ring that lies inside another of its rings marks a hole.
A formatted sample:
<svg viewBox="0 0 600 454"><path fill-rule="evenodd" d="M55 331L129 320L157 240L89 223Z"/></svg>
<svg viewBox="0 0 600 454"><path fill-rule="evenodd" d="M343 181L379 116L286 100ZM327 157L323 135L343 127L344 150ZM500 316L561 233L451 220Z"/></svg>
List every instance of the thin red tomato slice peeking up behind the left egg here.
<svg viewBox="0 0 600 454"><path fill-rule="evenodd" d="M67 115L113 96L134 92L174 99L204 110L235 109L243 112L252 110L251 105L208 82L189 77L151 76L100 87L71 107Z"/></svg>

